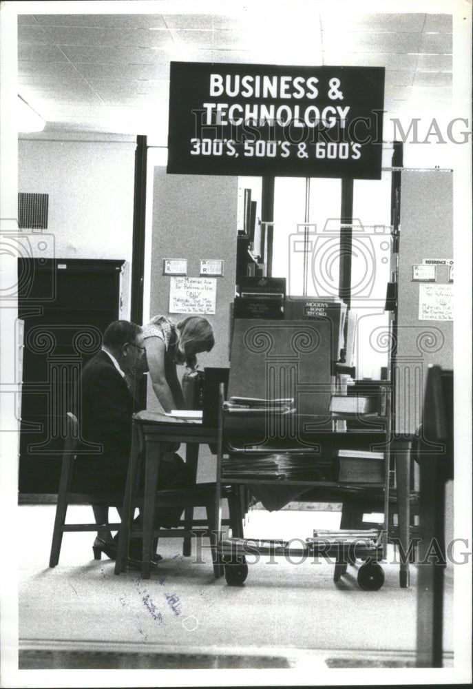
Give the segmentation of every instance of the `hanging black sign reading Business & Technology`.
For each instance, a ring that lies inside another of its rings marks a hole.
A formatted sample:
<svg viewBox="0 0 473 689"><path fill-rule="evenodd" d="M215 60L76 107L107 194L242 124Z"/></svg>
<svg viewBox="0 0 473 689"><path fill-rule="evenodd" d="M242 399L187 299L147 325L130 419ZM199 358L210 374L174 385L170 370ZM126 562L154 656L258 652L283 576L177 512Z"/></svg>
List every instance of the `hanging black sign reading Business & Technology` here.
<svg viewBox="0 0 473 689"><path fill-rule="evenodd" d="M171 62L167 172L380 179L384 71Z"/></svg>

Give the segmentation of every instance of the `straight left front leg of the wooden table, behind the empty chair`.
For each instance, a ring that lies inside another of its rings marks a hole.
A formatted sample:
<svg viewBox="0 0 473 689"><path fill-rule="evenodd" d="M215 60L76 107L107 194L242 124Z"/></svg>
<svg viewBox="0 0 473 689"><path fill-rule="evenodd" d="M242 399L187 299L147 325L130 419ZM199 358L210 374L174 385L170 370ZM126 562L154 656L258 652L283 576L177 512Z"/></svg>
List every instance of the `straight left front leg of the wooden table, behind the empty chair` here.
<svg viewBox="0 0 473 689"><path fill-rule="evenodd" d="M160 458L160 442L147 440L145 456L145 493L143 496L143 552L141 555L141 576L149 579L151 555L153 554L154 521L156 515L156 490Z"/></svg>

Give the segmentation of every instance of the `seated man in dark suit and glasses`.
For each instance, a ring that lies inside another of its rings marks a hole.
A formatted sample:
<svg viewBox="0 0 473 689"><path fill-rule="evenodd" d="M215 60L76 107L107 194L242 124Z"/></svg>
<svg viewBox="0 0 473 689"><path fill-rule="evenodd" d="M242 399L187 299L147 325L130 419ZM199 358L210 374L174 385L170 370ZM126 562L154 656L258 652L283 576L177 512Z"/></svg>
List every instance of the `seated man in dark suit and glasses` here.
<svg viewBox="0 0 473 689"><path fill-rule="evenodd" d="M87 364L81 375L81 436L94 444L99 453L81 453L76 460L74 489L85 493L125 492L127 467L132 442L132 415L138 411L129 386L147 370L141 328L127 320L112 322L103 333L103 346ZM92 448L91 448L92 449ZM193 484L184 462L174 455L160 476L161 488L178 488ZM108 522L108 507L92 505L96 524ZM182 510L181 510L182 512ZM163 525L176 515L160 514ZM164 521L162 521L164 520ZM116 539L104 526L98 526L94 556L103 552L114 559ZM138 564L140 539L129 544L130 564ZM156 559L156 558L155 558ZM159 558L158 558L159 559Z"/></svg>

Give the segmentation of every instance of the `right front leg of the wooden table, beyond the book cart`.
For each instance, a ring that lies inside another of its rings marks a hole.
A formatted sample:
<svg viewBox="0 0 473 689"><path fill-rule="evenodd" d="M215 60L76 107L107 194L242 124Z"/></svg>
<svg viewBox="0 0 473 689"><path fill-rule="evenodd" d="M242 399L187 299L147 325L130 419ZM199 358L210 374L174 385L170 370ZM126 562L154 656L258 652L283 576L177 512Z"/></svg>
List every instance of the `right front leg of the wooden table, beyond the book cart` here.
<svg viewBox="0 0 473 689"><path fill-rule="evenodd" d="M391 449L395 453L396 486L397 486L397 515L399 519L399 546L401 565L399 569L399 585L408 588L409 578L409 548L410 548L410 441L395 440Z"/></svg>

